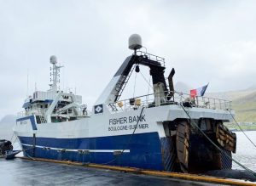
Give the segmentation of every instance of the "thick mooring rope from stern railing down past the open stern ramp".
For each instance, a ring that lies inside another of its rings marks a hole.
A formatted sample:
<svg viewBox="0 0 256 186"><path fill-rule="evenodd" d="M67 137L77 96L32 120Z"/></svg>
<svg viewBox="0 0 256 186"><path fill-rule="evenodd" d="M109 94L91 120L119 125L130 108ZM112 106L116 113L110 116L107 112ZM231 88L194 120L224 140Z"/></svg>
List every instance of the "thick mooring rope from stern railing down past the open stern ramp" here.
<svg viewBox="0 0 256 186"><path fill-rule="evenodd" d="M207 138L207 140L208 140L214 147L216 147L219 151L223 152L224 155L226 155L231 161L234 161L238 166L241 166L241 167L242 167L243 169L245 169L247 172L252 173L253 176L256 177L256 172L253 172L253 170L249 169L247 166L242 165L241 163L239 163L238 161L236 161L234 158L232 158L230 155L228 155L223 149L220 149L220 148L218 147L218 145L215 144L215 143L212 141L212 139L209 138L209 137L207 136L207 134L206 134L205 132L203 132L200 127L197 126L197 124L195 123L195 121L192 120L192 118L189 116L188 111L185 110L185 108L183 107L182 103L180 104L180 106L183 108L184 112L185 112L186 115L189 117L189 120L192 121L193 125L203 134L204 137Z"/></svg>

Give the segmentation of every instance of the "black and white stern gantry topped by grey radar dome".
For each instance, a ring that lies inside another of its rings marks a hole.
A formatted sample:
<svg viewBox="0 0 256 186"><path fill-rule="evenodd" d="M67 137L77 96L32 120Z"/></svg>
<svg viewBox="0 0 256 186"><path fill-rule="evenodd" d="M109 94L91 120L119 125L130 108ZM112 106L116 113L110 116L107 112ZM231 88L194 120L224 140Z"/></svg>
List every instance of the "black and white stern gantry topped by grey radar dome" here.
<svg viewBox="0 0 256 186"><path fill-rule="evenodd" d="M133 65L148 66L152 76L155 99L158 99L160 102L160 100L166 98L166 95L164 95L167 91L164 76L166 69L165 59L153 54L137 51L142 46L142 38L137 34L131 35L129 38L129 48L134 50L134 54L125 59L112 80L108 83L108 86L103 90L99 99L96 100L96 104L109 104L119 99L119 93L121 93L122 88L125 86Z"/></svg>

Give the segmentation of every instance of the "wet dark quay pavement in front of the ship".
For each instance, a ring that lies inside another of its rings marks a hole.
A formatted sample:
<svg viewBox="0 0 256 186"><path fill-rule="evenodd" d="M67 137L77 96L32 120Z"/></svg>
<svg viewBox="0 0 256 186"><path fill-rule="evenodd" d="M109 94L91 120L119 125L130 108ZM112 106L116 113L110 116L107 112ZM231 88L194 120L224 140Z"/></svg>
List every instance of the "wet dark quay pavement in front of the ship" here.
<svg viewBox="0 0 256 186"><path fill-rule="evenodd" d="M0 159L0 185L215 185L19 158ZM219 184L218 184L219 185Z"/></svg>

